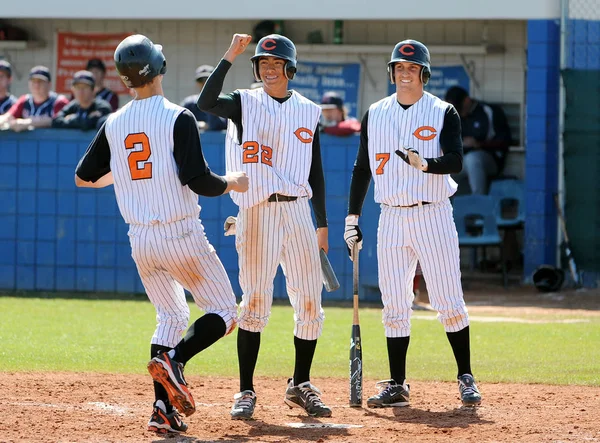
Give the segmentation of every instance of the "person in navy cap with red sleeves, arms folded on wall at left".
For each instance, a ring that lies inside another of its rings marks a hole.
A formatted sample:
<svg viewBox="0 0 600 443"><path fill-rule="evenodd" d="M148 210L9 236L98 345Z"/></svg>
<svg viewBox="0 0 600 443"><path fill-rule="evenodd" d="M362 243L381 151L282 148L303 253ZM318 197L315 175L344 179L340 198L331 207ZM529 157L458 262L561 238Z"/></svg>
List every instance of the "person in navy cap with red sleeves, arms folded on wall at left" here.
<svg viewBox="0 0 600 443"><path fill-rule="evenodd" d="M45 66L34 66L29 71L29 94L22 95L0 117L0 126L8 123L9 129L20 132L33 128L49 128L52 119L69 100L50 88L52 77Z"/></svg>

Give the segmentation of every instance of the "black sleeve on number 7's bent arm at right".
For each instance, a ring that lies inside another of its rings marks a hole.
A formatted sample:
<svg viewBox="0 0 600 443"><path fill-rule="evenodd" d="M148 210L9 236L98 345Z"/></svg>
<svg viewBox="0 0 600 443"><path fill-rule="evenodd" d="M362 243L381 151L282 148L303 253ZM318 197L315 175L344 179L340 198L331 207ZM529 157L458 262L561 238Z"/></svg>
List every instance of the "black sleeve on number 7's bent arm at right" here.
<svg viewBox="0 0 600 443"><path fill-rule="evenodd" d="M444 125L440 132L440 146L443 155L427 158L428 174L458 174L462 170L462 135L460 116L454 106L448 106L444 115Z"/></svg>

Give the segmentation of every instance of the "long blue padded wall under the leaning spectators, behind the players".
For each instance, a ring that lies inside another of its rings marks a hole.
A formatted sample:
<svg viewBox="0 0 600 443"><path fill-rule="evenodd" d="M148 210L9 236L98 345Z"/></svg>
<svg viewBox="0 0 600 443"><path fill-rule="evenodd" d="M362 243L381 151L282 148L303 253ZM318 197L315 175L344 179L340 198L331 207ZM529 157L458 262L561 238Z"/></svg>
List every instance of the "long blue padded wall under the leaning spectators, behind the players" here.
<svg viewBox="0 0 600 443"><path fill-rule="evenodd" d="M0 132L0 289L144 292L112 186L81 189L73 182L77 162L93 136L91 132L50 129ZM323 292L329 300L352 298L352 263L343 231L358 139L321 138L329 257L341 284L335 292ZM202 134L209 165L221 174L225 171L223 144L223 133ZM237 213L237 206L229 196L200 197L200 205L208 239L240 296L235 240L223 235L223 222ZM373 202L372 189L364 215L361 283L373 285L379 207ZM275 280L275 297L286 297L281 271Z"/></svg>

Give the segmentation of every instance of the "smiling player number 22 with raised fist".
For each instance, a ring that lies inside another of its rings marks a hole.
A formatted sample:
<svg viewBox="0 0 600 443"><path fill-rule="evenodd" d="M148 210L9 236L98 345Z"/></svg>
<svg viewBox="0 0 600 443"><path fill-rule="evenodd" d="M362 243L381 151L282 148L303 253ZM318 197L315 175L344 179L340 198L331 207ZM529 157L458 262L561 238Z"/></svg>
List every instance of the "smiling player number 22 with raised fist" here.
<svg viewBox="0 0 600 443"><path fill-rule="evenodd" d="M252 37L235 34L231 46L208 78L198 107L228 118L227 170L250 177L245 194L232 192L239 206L236 248L243 290L238 328L240 392L234 419L250 419L256 405L253 375L260 334L269 320L273 278L281 264L294 308L294 376L284 401L309 415L329 417L319 391L310 383L310 367L323 327L319 248L328 250L325 183L317 125L319 106L288 81L296 72L296 47L286 37L263 37L251 58L263 87L220 94L225 75ZM317 220L315 235L308 200Z"/></svg>

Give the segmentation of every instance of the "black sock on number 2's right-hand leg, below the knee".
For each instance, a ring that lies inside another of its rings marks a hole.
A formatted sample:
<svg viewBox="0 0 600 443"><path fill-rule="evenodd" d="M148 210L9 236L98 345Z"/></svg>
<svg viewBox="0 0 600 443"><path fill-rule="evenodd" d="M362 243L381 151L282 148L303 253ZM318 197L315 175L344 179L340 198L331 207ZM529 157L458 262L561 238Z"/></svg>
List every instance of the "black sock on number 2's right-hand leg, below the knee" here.
<svg viewBox="0 0 600 443"><path fill-rule="evenodd" d="M185 365L194 355L223 337L226 331L225 320L220 315L203 315L190 326L185 337L175 346L175 360Z"/></svg>

